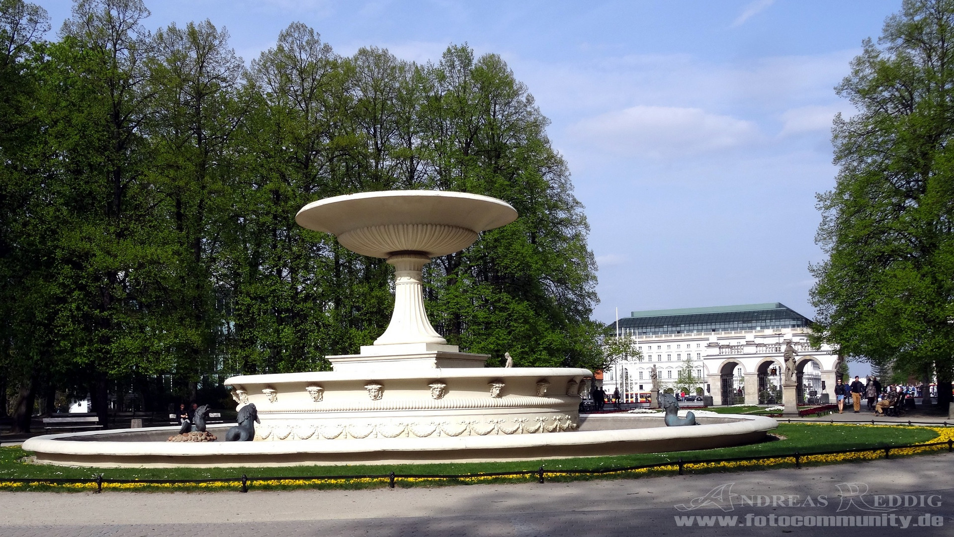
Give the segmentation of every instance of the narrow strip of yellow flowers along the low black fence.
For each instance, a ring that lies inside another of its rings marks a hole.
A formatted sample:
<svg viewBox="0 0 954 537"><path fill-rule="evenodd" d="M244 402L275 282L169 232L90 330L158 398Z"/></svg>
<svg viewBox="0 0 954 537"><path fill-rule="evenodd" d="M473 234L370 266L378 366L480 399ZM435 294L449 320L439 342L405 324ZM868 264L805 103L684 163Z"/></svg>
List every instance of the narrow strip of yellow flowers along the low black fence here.
<svg viewBox="0 0 954 537"><path fill-rule="evenodd" d="M808 424L808 423L806 423ZM816 426L862 426L862 427L884 427L884 426L903 426L895 424L856 424L856 423L812 423ZM954 441L954 428L952 427L919 427L927 428L937 433L937 437L929 440L927 442L922 442L915 444L911 447L893 447L890 449L892 455L915 455L918 453L925 453L930 451L939 451L942 449L947 449L946 443L948 441ZM945 443L939 445L921 445L921 444L937 444ZM846 461L864 461L864 460L874 460L881 459L884 456L883 448L870 448L861 451L855 452L845 452L845 453L833 453L829 455L801 455L799 456L799 461L801 463L841 463ZM733 468L753 468L753 467L766 467L766 466L777 466L777 465L795 465L794 456L778 456L778 457L764 457L761 459L752 459L747 461L719 461L715 463L683 463L683 468L686 470L712 470L712 469L733 469ZM606 472L599 474L601 476L633 476L633 475L645 475L653 472L671 472L678 470L679 465L677 464L668 464L668 465L659 465L648 468L635 468L632 470L619 470ZM591 477L594 474L589 472L567 472L560 474L550 474L553 477L562 477L562 476L587 476ZM537 474L534 472L532 474L511 474L504 476L490 476L490 475L478 475L471 477L461 477L461 478L443 478L443 477L408 477L402 478L398 477L396 480L398 483L447 483L450 481L456 483L482 483L493 480L508 480L512 481L514 479L525 479L528 481L533 481L537 479ZM316 486L326 486L326 485L386 485L390 481L387 477L371 477L371 478L326 478L326 479L271 479L271 480L249 480L249 485L256 488L268 488L272 486L281 486L281 487L294 487L294 488L311 488ZM10 490L16 488L23 488L25 486L29 487L50 487L57 488L60 490L95 490L97 485L94 482L90 483L51 483L44 482L42 480L33 481L30 483L18 483L18 482L3 482L0 481L0 490ZM212 481L205 483L108 483L104 482L102 488L104 490L201 490L201 489L239 489L241 487L240 482L228 482L228 481Z"/></svg>

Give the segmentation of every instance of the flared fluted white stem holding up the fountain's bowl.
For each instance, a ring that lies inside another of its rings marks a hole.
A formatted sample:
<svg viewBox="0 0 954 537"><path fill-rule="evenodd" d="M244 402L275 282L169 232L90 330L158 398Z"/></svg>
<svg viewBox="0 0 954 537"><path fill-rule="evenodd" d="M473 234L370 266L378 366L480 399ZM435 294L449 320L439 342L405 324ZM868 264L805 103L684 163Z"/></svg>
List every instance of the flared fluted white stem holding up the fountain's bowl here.
<svg viewBox="0 0 954 537"><path fill-rule="evenodd" d="M408 252L387 258L394 265L394 312L391 323L375 345L437 343L447 341L434 330L424 309L421 269L430 262L422 253Z"/></svg>

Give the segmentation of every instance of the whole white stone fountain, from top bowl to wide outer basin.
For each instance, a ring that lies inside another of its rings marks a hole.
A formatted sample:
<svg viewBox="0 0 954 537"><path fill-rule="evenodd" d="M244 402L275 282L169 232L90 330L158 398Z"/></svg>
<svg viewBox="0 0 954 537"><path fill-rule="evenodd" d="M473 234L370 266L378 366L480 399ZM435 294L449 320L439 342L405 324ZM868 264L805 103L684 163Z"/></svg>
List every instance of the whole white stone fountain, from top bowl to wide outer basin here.
<svg viewBox="0 0 954 537"><path fill-rule="evenodd" d="M673 428L661 416L581 419L591 371L485 367L488 355L448 345L427 319L422 268L516 217L504 201L455 192L373 192L309 203L296 217L302 227L395 267L394 311L374 344L357 355L327 357L330 372L226 380L239 407L258 408L256 442L156 442L168 437L164 427L36 437L24 448L38 462L99 466L504 461L742 444L777 426L753 416Z"/></svg>

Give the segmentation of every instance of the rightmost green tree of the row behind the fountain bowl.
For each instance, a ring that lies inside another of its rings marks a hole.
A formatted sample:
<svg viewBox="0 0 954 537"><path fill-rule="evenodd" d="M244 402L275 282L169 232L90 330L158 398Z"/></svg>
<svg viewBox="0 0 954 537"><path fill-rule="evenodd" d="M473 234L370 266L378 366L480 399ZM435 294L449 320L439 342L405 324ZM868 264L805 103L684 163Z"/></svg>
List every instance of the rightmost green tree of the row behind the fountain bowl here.
<svg viewBox="0 0 954 537"><path fill-rule="evenodd" d="M520 214L425 266L435 327L494 361L510 351L521 365L601 366L589 226L548 119L496 54L452 46L427 75L425 186L498 197Z"/></svg>

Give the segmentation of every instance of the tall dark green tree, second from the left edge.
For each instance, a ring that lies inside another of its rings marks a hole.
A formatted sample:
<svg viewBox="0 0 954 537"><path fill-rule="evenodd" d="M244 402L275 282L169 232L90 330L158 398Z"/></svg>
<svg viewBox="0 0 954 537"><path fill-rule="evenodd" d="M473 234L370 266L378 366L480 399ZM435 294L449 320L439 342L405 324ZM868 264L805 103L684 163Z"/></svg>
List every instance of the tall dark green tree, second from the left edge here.
<svg viewBox="0 0 954 537"><path fill-rule="evenodd" d="M38 194L56 209L55 341L101 423L112 381L175 356L165 293L175 279L142 131L155 98L148 15L140 0L78 1L44 72L53 158Z"/></svg>

